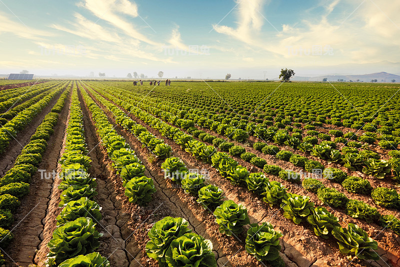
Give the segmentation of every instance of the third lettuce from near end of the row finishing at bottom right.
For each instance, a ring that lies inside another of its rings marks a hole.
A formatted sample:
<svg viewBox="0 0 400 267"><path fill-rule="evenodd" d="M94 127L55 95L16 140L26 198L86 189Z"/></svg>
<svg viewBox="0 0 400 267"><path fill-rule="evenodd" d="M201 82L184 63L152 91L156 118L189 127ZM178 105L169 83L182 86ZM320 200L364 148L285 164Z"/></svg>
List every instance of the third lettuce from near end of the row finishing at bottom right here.
<svg viewBox="0 0 400 267"><path fill-rule="evenodd" d="M283 209L283 216L286 219L293 220L296 224L299 224L304 217L310 214L310 208L313 206L314 203L309 201L309 197L292 193L286 193L280 204Z"/></svg>

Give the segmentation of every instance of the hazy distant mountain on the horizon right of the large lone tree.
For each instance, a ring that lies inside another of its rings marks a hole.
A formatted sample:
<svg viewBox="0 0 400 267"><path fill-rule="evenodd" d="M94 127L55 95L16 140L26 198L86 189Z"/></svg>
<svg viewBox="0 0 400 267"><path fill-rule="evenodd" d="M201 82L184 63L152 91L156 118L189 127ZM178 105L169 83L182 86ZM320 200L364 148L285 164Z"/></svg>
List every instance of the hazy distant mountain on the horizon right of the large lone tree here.
<svg viewBox="0 0 400 267"><path fill-rule="evenodd" d="M294 76L291 80L292 81L322 81L323 78L327 78L330 82L335 82L338 79L343 81L356 81L359 80L360 82L370 82L371 80L376 79L378 82L388 82L390 83L391 80L396 80L396 82L400 82L400 76L395 74L390 74L387 72L377 72L377 73L370 73L370 74L363 74L363 75L326 75L326 76L317 76L317 77L301 77L301 76Z"/></svg>

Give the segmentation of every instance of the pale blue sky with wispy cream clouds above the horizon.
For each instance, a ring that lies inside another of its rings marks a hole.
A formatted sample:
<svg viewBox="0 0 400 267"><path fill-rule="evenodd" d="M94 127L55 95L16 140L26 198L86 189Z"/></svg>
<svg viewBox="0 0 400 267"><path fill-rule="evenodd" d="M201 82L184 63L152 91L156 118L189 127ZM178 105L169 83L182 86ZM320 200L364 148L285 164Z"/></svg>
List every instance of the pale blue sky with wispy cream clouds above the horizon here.
<svg viewBox="0 0 400 267"><path fill-rule="evenodd" d="M400 1L0 0L0 74L400 74Z"/></svg>

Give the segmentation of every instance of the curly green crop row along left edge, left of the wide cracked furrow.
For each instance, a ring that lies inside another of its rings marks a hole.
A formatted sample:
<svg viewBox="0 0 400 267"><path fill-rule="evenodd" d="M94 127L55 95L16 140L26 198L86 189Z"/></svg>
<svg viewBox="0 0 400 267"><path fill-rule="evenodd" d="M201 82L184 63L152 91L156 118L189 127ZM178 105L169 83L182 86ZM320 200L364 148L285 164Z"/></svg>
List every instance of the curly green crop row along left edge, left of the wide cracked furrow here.
<svg viewBox="0 0 400 267"><path fill-rule="evenodd" d="M60 96L57 103L62 107L70 90ZM30 142L24 146L20 155L17 156L14 166L0 179L0 246L5 247L12 240L13 235L8 228L13 222L12 212L20 205L18 198L29 193L29 182L31 176L37 172L37 167L45 152L47 141L53 133L60 112L48 113L42 123L36 128L30 137ZM0 262L3 256L0 255Z"/></svg>

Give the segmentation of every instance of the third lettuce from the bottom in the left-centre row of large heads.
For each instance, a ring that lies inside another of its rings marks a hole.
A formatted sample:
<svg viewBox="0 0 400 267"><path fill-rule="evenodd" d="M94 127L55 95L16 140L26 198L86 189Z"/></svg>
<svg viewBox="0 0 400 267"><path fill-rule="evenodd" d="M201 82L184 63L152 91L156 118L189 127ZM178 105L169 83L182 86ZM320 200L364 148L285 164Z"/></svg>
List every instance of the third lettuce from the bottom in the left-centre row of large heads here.
<svg viewBox="0 0 400 267"><path fill-rule="evenodd" d="M101 207L95 201L91 201L87 197L82 197L76 201L69 201L56 218L57 226L64 225L79 217L89 217L98 222L101 220L100 210Z"/></svg>

